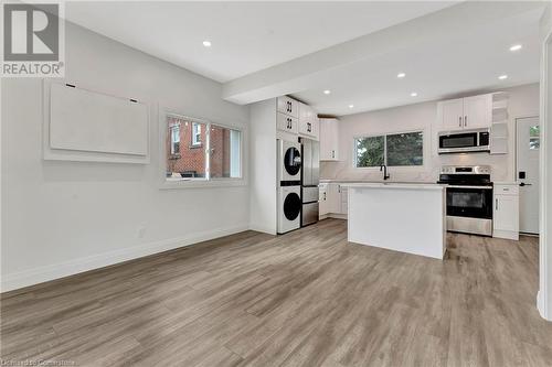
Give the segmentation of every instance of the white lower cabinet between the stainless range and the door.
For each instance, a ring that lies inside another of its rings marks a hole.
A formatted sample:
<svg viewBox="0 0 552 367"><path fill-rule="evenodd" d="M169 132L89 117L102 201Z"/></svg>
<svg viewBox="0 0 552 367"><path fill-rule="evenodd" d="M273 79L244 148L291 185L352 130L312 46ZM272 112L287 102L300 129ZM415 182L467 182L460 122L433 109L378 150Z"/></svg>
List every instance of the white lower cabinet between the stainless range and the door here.
<svg viewBox="0 0 552 367"><path fill-rule="evenodd" d="M492 237L519 239L519 188L517 184L495 185Z"/></svg>

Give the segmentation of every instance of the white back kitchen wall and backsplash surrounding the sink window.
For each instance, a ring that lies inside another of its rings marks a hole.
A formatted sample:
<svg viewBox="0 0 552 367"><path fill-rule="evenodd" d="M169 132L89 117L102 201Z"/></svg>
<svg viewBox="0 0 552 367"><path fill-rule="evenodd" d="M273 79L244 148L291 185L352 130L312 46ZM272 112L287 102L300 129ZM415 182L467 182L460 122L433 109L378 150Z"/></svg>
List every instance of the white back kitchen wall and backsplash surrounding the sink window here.
<svg viewBox="0 0 552 367"><path fill-rule="evenodd" d="M442 130L436 125L437 102L429 101L365 114L349 115L339 122L340 162L321 162L321 177L336 180L381 180L379 169L353 168L353 139L363 134L385 132L404 132L423 130L424 133L424 166L390 168L392 181L426 181L435 182L444 164L490 164L492 180L513 181L514 177L514 119L539 115L539 85L530 84L514 88L502 89L509 93L509 153L490 155L476 154L437 154L437 132Z"/></svg>

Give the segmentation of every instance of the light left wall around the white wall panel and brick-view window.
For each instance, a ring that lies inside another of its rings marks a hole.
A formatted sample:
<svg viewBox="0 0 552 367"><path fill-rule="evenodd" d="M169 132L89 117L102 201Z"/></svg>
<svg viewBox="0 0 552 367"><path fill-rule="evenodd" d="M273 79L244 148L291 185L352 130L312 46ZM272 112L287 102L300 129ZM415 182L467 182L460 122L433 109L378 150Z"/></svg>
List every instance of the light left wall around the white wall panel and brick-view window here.
<svg viewBox="0 0 552 367"><path fill-rule="evenodd" d="M159 188L158 105L246 127L248 108L222 100L220 84L73 24L66 78L150 101L151 163L43 161L42 83L3 79L3 291L248 227L246 185Z"/></svg>

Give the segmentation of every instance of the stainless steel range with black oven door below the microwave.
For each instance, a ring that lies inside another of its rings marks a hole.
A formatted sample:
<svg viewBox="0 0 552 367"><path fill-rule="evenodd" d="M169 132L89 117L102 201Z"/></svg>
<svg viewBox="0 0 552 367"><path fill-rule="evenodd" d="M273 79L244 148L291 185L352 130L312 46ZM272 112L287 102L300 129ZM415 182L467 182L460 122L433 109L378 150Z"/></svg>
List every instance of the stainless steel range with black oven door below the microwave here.
<svg viewBox="0 0 552 367"><path fill-rule="evenodd" d="M445 165L437 183L447 185L447 230L492 235L490 166Z"/></svg>

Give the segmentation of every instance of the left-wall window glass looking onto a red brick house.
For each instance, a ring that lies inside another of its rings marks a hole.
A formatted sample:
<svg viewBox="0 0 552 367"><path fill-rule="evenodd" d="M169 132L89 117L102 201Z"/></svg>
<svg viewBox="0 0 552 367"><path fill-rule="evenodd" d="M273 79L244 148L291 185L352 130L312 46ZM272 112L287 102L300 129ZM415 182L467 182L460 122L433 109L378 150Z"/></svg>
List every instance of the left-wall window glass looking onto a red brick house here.
<svg viewBox="0 0 552 367"><path fill-rule="evenodd" d="M187 117L167 117L167 180L242 177L242 131Z"/></svg>

